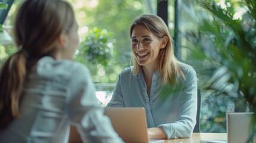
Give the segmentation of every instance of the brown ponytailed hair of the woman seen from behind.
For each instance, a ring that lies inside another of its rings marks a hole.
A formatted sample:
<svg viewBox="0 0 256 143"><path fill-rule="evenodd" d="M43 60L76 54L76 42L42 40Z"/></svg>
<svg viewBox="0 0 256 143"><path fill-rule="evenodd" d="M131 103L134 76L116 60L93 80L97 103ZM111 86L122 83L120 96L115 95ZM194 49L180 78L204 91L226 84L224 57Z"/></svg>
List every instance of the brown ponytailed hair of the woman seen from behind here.
<svg viewBox="0 0 256 143"><path fill-rule="evenodd" d="M14 39L19 51L11 55L0 71L0 128L19 114L19 102L30 61L53 57L61 32L75 23L72 7L61 0L27 0L17 11Z"/></svg>

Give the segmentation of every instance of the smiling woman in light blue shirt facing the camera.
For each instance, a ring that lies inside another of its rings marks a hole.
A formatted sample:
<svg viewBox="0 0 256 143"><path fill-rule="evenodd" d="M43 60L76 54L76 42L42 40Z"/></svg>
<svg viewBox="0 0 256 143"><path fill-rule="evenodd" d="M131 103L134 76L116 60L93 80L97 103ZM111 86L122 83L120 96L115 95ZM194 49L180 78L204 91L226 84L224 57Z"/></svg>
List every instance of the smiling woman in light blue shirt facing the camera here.
<svg viewBox="0 0 256 143"><path fill-rule="evenodd" d="M149 139L190 138L196 125L195 70L175 58L164 20L144 14L129 30L131 66L119 74L107 107L144 107Z"/></svg>

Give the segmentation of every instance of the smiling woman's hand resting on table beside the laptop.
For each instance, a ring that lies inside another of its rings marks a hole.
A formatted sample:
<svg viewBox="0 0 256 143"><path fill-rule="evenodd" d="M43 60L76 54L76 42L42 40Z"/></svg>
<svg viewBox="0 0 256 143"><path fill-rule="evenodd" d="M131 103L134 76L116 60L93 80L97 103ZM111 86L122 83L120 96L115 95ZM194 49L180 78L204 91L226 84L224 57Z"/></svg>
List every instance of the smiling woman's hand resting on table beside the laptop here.
<svg viewBox="0 0 256 143"><path fill-rule="evenodd" d="M147 129L147 136L149 139L167 139L167 136L162 127Z"/></svg>

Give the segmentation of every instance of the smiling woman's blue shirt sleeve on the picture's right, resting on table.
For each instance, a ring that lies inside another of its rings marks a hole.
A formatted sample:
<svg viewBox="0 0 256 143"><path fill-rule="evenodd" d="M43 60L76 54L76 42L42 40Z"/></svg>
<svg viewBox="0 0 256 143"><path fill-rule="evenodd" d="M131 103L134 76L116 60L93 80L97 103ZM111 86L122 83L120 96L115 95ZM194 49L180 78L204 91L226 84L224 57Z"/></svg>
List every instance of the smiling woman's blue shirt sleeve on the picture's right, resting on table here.
<svg viewBox="0 0 256 143"><path fill-rule="evenodd" d="M197 77L192 67L186 67L184 71L186 79L180 98L179 119L174 123L159 125L162 127L168 139L190 138L196 125L197 111Z"/></svg>

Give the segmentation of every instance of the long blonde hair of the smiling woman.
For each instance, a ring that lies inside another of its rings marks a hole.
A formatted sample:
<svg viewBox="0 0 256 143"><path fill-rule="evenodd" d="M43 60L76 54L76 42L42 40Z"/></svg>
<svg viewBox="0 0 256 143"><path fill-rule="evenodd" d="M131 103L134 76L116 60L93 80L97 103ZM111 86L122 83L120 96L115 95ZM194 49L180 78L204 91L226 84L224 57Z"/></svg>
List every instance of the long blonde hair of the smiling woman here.
<svg viewBox="0 0 256 143"><path fill-rule="evenodd" d="M155 34L158 38L168 37L168 43L165 48L160 49L158 55L158 72L161 73L163 84L174 85L178 83L178 76L183 76L183 71L178 66L178 60L174 55L174 48L172 46L172 38L169 35L168 27L164 20L158 15L144 14L134 20L130 29L130 37L132 30L137 25L145 26L150 32ZM134 53L131 55L131 66L133 66L132 74L137 76L140 74L141 66L138 64Z"/></svg>

